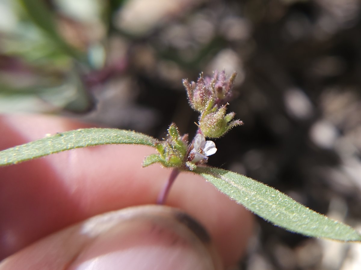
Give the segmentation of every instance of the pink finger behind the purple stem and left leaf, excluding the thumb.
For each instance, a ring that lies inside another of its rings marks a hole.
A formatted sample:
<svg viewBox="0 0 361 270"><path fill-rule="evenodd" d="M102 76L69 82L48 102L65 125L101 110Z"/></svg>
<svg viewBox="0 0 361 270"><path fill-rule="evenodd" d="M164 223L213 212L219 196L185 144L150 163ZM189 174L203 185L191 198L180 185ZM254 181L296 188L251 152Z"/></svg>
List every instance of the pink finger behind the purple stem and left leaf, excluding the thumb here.
<svg viewBox="0 0 361 270"><path fill-rule="evenodd" d="M85 127L92 126L55 116L4 115L0 149ZM151 153L154 149L139 145L101 145L0 167L0 258L89 217L154 204L170 170L142 168ZM252 214L203 178L181 173L165 204L204 226L223 266L242 258Z"/></svg>

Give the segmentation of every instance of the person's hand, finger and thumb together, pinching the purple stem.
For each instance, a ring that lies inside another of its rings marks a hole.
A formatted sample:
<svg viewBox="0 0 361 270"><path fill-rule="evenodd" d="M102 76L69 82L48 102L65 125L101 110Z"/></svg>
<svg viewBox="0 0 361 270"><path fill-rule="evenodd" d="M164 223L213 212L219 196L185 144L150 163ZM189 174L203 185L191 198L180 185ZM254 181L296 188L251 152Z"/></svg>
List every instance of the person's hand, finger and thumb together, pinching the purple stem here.
<svg viewBox="0 0 361 270"><path fill-rule="evenodd" d="M81 127L89 126L59 117L2 116L0 149ZM87 269L85 262L95 261L99 268L93 269L101 269L103 263L103 269L125 268L125 257L144 264L144 269L150 269L150 261L159 262L163 268L158 269L167 269L162 262L172 256L178 267L191 260L205 262L204 257L195 256L200 254L200 246L189 240L200 231L179 227L178 214L174 214L179 213L177 210L161 210L161 217L166 217L162 219L157 214L159 207L133 209L132 215L137 218L131 225L124 222L122 212L109 212L156 202L170 171L157 165L141 167L144 156L153 152L143 146L103 145L1 167L0 258L13 255L0 263L0 269ZM252 231L252 214L201 177L179 175L166 205L186 212L205 227L213 244L201 237L199 243L209 251L211 261L216 263L219 258L221 266L227 267L243 255ZM155 214L145 215L147 212ZM101 213L103 219L84 221ZM101 229L104 219L112 220L112 226ZM90 228L88 233L80 233L84 228ZM149 232L147 228L161 228L165 233L143 234L143 242L136 242L140 232ZM169 246L157 249L175 238L183 239L177 243L189 243L183 245L182 252ZM135 243L144 253L137 253L140 249L135 252ZM160 250L163 253L156 252ZM105 256L109 254L116 256Z"/></svg>

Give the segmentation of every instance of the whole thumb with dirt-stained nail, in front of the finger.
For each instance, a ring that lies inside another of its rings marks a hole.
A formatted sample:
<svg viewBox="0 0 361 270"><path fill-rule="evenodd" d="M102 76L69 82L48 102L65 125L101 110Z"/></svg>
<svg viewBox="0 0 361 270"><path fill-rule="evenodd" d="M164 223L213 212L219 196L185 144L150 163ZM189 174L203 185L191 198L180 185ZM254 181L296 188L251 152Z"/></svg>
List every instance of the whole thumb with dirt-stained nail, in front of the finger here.
<svg viewBox="0 0 361 270"><path fill-rule="evenodd" d="M0 263L4 269L222 269L208 233L165 206L108 212L52 234Z"/></svg>

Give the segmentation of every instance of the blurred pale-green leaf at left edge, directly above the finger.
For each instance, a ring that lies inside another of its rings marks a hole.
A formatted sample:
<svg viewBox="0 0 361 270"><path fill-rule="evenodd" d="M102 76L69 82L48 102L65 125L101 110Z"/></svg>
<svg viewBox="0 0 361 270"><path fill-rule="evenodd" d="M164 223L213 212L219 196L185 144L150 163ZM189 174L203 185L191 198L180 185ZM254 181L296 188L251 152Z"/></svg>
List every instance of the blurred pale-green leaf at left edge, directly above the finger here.
<svg viewBox="0 0 361 270"><path fill-rule="evenodd" d="M93 108L94 100L75 69L64 73L64 78L52 73L45 75L47 77L34 75L31 82L21 87L13 86L21 75L16 78L16 74L12 74L14 82L9 81L9 84L0 82L0 113L64 110L84 113Z"/></svg>

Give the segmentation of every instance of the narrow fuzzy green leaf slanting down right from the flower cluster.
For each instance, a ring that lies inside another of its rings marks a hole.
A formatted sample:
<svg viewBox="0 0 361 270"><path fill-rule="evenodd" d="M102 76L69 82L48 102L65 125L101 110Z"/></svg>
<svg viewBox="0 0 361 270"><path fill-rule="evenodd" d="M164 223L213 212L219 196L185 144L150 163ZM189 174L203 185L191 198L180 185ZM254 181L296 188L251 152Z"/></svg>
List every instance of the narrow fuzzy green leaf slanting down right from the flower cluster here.
<svg viewBox="0 0 361 270"><path fill-rule="evenodd" d="M316 213L256 180L217 168L197 167L194 172L230 198L277 226L310 237L361 241L361 235L350 226Z"/></svg>

